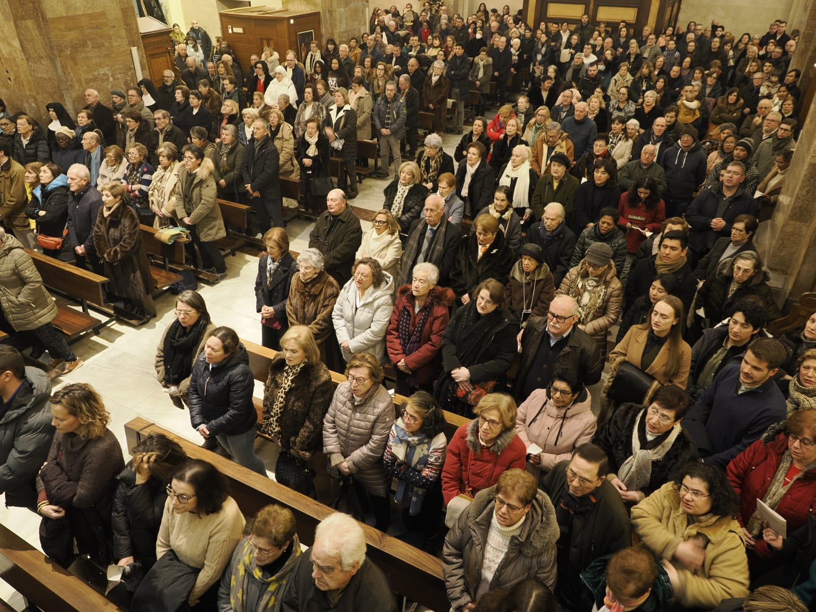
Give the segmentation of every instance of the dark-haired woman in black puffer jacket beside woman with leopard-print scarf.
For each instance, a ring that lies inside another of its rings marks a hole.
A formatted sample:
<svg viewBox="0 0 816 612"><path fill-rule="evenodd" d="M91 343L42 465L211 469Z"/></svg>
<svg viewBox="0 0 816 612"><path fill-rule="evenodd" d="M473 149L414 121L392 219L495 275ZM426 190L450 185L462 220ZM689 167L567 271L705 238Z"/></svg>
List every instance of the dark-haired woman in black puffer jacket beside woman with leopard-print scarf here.
<svg viewBox="0 0 816 612"><path fill-rule="evenodd" d="M190 423L204 440L215 437L233 461L265 477L264 462L253 450L258 419L252 404L254 385L246 348L235 330L216 327L193 365Z"/></svg>

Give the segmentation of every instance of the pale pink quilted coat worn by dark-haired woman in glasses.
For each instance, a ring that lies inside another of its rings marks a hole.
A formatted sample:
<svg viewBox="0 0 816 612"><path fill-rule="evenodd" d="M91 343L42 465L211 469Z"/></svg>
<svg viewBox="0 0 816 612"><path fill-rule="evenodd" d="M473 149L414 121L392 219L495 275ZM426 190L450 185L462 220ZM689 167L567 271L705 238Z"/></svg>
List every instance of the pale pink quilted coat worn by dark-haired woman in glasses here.
<svg viewBox="0 0 816 612"><path fill-rule="evenodd" d="M521 402L516 413L516 432L525 448L537 444L541 463L527 463L527 472L543 478L556 463L572 457L577 447L592 441L597 422L592 414L592 397L584 388L570 406L558 408L547 389L536 389Z"/></svg>

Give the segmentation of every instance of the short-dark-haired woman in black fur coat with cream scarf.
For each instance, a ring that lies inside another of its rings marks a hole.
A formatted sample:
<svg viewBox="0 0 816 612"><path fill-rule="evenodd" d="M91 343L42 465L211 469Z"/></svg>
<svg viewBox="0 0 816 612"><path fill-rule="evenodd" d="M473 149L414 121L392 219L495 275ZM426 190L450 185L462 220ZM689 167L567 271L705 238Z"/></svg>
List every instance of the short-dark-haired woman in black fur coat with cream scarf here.
<svg viewBox="0 0 816 612"><path fill-rule="evenodd" d="M654 392L649 406L622 404L592 442L610 458L607 479L626 503L638 503L669 481L678 465L697 459L681 427L689 396L674 384Z"/></svg>

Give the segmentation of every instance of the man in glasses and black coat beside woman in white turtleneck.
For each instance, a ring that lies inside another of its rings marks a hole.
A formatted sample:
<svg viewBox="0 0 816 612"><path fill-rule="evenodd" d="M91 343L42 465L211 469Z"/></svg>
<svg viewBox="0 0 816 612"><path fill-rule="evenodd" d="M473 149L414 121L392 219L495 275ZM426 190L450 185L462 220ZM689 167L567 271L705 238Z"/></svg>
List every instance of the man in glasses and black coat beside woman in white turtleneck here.
<svg viewBox="0 0 816 612"><path fill-rule="evenodd" d="M594 444L582 444L572 459L557 463L541 482L561 527L555 592L564 612L591 610L581 572L597 558L632 545L629 515L606 480L609 471L606 453Z"/></svg>

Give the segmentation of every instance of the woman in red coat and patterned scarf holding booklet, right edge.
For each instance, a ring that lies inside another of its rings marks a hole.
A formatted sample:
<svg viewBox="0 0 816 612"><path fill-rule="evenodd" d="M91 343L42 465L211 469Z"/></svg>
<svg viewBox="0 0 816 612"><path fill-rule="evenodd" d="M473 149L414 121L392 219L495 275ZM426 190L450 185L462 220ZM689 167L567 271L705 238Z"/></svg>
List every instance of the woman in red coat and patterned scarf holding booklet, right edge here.
<svg viewBox="0 0 816 612"><path fill-rule="evenodd" d="M762 517L756 499L787 521L787 533L805 525L816 506L816 410L797 410L771 426L761 439L734 457L728 479L740 498L737 520L743 526L751 573L775 563L762 539Z"/></svg>

